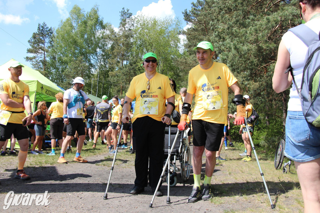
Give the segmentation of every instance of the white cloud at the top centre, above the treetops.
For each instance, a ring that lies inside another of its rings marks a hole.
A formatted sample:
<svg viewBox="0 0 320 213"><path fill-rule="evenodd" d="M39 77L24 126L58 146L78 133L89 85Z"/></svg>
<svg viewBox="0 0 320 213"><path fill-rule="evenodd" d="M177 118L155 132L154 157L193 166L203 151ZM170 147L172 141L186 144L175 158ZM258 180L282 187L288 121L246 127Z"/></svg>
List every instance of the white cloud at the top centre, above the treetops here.
<svg viewBox="0 0 320 213"><path fill-rule="evenodd" d="M172 10L171 0L159 0L158 3L152 2L146 7L143 7L141 11L137 12L137 15L145 15L149 17L165 18L171 16L174 18L176 14Z"/></svg>

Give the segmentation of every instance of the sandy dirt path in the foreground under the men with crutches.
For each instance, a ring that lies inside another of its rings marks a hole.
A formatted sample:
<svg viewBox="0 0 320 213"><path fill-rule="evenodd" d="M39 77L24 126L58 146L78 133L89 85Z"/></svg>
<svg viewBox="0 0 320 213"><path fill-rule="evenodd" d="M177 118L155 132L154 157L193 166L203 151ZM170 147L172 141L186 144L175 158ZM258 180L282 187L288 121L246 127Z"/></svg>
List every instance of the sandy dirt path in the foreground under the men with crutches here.
<svg viewBox="0 0 320 213"><path fill-rule="evenodd" d="M191 146L192 148L192 146ZM230 151L231 152L231 151ZM192 153L192 152L191 152ZM21 193L40 193L48 191L50 195L47 206L11 206L10 212L278 212L271 210L266 194L256 194L252 189L247 196L225 196L219 197L222 188L235 187L235 194L241 194L239 188L245 183L237 183L230 180L228 182L227 167L225 164L218 164L214 171L214 177L226 178L225 183L215 185L212 201L198 201L187 203L188 196L192 190L193 177L186 183L182 183L178 177L178 184L170 188L171 204L166 203L167 185L164 183L162 190L163 197L156 197L153 208L148 208L153 193L150 187L145 188L145 192L140 195L131 195L129 192L134 186L135 172L132 161L120 161L115 166L111 184L108 190L108 200L103 200L106 190L110 167L102 166L103 162L111 161L104 159L105 155L98 155L87 158L88 163L68 163L53 166L28 168L28 174L32 179L20 181L13 179L16 170L16 163L0 165L0 203L4 205L4 198L9 191L16 194ZM102 159L102 160L101 160ZM230 161L229 161L230 162ZM99 163L96 165L96 163ZM256 162L254 162L256 164ZM128 166L130 164L130 166ZM1 168L2 167L2 168ZM192 170L191 170L192 172ZM241 170L236 171L241 172ZM260 178L260 179L258 179ZM256 188L262 189L261 176L257 176ZM259 189L258 189L259 190ZM233 193L233 192L232 192ZM257 197L260 196L260 197ZM275 199L275 196L273 196ZM222 201L220 201L222 200ZM1 207L2 210L2 207ZM5 212L6 212L5 211Z"/></svg>

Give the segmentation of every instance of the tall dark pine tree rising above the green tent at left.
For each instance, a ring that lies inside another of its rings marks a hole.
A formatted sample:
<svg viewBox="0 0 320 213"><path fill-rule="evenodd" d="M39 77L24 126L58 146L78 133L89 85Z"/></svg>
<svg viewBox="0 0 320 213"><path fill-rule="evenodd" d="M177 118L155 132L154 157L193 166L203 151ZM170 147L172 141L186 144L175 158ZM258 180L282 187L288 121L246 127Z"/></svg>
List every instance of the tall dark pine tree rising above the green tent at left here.
<svg viewBox="0 0 320 213"><path fill-rule="evenodd" d="M46 77L48 77L46 54L52 46L52 39L53 29L49 28L45 22L39 23L37 31L28 40L31 48L27 49L27 53L33 56L25 57L26 61L29 61L34 69Z"/></svg>

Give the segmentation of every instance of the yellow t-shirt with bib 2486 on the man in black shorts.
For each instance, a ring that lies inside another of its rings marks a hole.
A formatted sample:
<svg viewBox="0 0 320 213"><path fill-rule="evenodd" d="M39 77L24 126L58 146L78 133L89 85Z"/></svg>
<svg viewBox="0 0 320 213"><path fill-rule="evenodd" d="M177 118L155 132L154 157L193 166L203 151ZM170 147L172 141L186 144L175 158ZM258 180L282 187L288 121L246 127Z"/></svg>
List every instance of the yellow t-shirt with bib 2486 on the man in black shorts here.
<svg viewBox="0 0 320 213"><path fill-rule="evenodd" d="M227 65L213 62L209 69L200 65L192 68L188 77L187 92L195 94L192 120L227 124L228 87L237 79Z"/></svg>

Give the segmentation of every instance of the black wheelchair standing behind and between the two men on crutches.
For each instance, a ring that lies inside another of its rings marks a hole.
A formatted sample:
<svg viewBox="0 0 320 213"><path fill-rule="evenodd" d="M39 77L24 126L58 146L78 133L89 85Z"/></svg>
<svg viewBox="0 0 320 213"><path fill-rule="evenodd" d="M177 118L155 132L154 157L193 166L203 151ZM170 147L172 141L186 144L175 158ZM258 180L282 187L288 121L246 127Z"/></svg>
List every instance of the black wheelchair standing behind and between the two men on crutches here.
<svg viewBox="0 0 320 213"><path fill-rule="evenodd" d="M180 177L183 182L186 182L190 177L191 154L190 154L190 148L188 146L188 140L183 138L185 131L179 131L178 128L171 127L170 147L172 148L172 144L174 142L177 132L179 132L179 135L170 157L170 171L168 172L168 169L166 169L164 173L164 179L166 180L167 183L169 179L168 173L170 174L170 186L175 186L177 184L178 173L180 173ZM164 133L165 133L164 135L164 141L165 141L164 142L164 164L165 164L169 154L169 127L165 128ZM177 161L179 161L178 165L176 165Z"/></svg>

